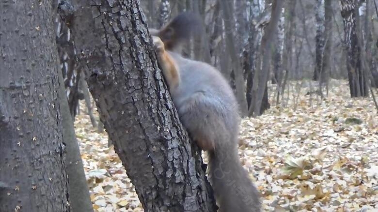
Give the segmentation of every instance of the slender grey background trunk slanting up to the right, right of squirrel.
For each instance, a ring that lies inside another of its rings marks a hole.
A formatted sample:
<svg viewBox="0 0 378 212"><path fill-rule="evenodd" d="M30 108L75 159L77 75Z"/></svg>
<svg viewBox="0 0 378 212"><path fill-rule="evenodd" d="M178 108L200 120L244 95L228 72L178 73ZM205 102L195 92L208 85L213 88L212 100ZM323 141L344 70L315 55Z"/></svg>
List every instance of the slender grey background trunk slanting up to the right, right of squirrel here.
<svg viewBox="0 0 378 212"><path fill-rule="evenodd" d="M270 46L275 31L277 30L278 21L280 19L284 1L275 0L272 3L270 21L265 28L264 35L261 39L259 53L262 55L260 64L257 64L256 73L253 76L252 100L249 115L261 115L261 106L267 89L269 76L269 60L271 58Z"/></svg>

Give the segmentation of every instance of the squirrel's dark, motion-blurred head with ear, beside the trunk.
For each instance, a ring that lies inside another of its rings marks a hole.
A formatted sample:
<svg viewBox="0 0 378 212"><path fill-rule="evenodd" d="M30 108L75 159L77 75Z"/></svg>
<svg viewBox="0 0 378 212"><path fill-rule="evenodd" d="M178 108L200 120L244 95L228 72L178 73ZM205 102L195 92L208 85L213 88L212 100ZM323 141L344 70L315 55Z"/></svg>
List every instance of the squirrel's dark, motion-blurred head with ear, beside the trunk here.
<svg viewBox="0 0 378 212"><path fill-rule="evenodd" d="M201 35L203 24L199 15L184 12L177 15L162 29L149 29L150 34L158 36L164 43L165 48L177 51L181 45L196 35Z"/></svg>

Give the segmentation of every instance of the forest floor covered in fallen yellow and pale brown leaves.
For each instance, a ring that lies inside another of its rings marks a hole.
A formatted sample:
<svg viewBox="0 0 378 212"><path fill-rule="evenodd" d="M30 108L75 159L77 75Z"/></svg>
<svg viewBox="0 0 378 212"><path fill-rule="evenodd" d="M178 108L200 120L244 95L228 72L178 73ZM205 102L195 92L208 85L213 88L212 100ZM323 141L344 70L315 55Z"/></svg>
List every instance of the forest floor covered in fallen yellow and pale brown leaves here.
<svg viewBox="0 0 378 212"><path fill-rule="evenodd" d="M239 155L262 194L263 211L378 211L372 97L351 99L345 80L331 80L323 100L306 95L316 89L311 81L290 82L284 104L276 105L269 85L271 108L242 120ZM95 211L143 211L106 132L97 133L84 110L75 127Z"/></svg>

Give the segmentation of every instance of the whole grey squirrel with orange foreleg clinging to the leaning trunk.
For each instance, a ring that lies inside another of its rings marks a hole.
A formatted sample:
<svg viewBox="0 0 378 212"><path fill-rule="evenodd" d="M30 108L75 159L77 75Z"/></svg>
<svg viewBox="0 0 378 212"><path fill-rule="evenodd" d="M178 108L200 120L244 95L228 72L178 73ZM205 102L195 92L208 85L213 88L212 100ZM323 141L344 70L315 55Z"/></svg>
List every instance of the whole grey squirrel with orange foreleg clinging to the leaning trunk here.
<svg viewBox="0 0 378 212"><path fill-rule="evenodd" d="M237 154L240 115L234 92L216 68L180 54L180 45L199 31L200 24L196 15L186 12L160 30L149 29L157 62L180 121L208 153L219 211L259 212L260 194Z"/></svg>

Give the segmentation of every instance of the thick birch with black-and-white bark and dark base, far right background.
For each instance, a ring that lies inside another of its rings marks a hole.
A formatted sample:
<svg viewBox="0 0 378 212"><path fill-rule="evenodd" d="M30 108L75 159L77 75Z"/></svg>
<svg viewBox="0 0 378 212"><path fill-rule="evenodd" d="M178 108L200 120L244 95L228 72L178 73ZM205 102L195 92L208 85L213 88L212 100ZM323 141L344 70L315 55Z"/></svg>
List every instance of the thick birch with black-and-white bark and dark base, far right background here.
<svg viewBox="0 0 378 212"><path fill-rule="evenodd" d="M357 0L340 0L341 15L344 21L344 40L347 48L347 70L351 97L367 96L368 85L360 60L361 48L358 41Z"/></svg>

